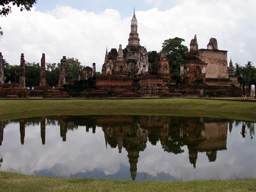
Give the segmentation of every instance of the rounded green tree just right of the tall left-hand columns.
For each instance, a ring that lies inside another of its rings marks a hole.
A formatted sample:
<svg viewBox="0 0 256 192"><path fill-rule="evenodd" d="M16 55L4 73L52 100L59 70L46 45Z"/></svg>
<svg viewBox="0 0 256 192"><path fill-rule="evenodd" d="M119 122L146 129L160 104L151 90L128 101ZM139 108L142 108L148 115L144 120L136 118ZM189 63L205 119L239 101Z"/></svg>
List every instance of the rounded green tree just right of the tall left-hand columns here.
<svg viewBox="0 0 256 192"><path fill-rule="evenodd" d="M83 69L83 66L81 66L81 62L79 62L78 59L74 59L73 57L67 59L66 67L69 83L73 80L77 80L79 72L81 72Z"/></svg>

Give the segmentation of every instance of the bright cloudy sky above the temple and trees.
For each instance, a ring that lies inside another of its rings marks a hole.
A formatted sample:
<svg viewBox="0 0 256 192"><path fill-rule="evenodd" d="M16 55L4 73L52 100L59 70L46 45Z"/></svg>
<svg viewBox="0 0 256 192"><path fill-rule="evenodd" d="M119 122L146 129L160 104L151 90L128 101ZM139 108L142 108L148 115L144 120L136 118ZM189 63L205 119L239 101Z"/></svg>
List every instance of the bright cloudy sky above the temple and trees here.
<svg viewBox="0 0 256 192"><path fill-rule="evenodd" d="M106 48L124 49L135 7L140 45L159 52L165 39L180 37L189 49L197 34L199 49L209 39L226 50L228 63L256 63L256 1L254 0L37 0L31 11L0 17L0 52L11 65L58 63L63 56L101 71Z"/></svg>

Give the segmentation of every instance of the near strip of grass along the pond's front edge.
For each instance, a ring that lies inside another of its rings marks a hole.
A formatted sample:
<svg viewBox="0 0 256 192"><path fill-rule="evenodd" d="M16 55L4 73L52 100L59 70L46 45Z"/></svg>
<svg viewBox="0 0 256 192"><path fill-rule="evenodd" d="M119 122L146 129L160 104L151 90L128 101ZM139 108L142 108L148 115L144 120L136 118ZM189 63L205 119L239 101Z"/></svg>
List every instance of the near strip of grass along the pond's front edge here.
<svg viewBox="0 0 256 192"><path fill-rule="evenodd" d="M256 179L188 182L65 179L0 172L0 187L6 191L256 191Z"/></svg>

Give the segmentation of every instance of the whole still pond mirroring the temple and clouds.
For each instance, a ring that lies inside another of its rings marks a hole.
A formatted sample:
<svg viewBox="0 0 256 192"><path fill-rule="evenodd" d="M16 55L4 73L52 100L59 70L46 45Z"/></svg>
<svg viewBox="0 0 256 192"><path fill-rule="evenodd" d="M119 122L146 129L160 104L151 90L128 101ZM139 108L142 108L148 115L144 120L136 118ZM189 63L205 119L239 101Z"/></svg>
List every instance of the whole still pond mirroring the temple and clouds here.
<svg viewBox="0 0 256 192"><path fill-rule="evenodd" d="M121 180L255 178L255 124L142 115L0 121L0 167Z"/></svg>

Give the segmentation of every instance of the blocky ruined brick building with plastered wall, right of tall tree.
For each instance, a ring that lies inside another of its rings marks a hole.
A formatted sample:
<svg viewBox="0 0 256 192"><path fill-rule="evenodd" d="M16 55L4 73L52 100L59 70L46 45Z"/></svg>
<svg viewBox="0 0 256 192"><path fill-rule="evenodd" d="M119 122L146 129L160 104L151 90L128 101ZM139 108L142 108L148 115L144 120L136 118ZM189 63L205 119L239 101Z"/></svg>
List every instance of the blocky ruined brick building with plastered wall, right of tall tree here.
<svg viewBox="0 0 256 192"><path fill-rule="evenodd" d="M190 41L189 57L181 64L180 91L201 96L226 95L227 91L231 94L240 84L233 74L232 63L229 65L230 69L227 51L218 50L216 38L210 38L207 49L198 49L195 35Z"/></svg>

